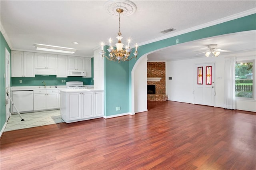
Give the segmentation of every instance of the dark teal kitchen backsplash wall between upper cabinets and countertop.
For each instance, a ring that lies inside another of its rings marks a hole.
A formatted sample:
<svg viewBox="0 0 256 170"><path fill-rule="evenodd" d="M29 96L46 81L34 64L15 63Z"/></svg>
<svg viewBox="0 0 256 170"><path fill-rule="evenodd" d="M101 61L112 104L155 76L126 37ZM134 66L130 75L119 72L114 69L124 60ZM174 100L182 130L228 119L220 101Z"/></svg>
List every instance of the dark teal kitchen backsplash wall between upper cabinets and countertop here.
<svg viewBox="0 0 256 170"><path fill-rule="evenodd" d="M92 77L93 77L93 58L92 58ZM22 80L22 83L20 83ZM41 86L44 85L42 81L46 83L46 85L55 86L55 83L58 85L66 85L66 83L61 83L61 80L66 81L83 81L84 85L93 85L92 78L82 78L82 77L72 77L68 76L67 78L57 78L56 75L49 75L49 77L44 77L42 75L36 75L36 77L12 77L11 78L11 86Z"/></svg>

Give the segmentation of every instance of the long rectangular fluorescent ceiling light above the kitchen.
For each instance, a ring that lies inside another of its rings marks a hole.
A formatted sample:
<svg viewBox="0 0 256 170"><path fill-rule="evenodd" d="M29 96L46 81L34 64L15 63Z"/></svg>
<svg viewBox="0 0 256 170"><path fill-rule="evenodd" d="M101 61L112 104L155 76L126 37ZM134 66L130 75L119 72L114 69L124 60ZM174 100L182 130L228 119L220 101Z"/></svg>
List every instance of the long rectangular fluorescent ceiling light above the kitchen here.
<svg viewBox="0 0 256 170"><path fill-rule="evenodd" d="M76 52L76 49L74 48L59 47L54 45L45 45L45 44L38 44L38 43L36 43L35 45L37 50L42 50L42 51L52 51L52 52L69 53L69 54Z"/></svg>

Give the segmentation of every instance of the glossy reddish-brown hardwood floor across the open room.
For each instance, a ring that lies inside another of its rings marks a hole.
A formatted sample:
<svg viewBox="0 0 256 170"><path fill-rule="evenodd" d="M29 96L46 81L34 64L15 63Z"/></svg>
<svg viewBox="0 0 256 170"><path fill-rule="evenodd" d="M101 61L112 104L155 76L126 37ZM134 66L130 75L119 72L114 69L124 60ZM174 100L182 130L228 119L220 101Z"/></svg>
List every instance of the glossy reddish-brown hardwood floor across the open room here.
<svg viewBox="0 0 256 170"><path fill-rule="evenodd" d="M256 115L148 102L133 116L4 132L7 169L256 169Z"/></svg>

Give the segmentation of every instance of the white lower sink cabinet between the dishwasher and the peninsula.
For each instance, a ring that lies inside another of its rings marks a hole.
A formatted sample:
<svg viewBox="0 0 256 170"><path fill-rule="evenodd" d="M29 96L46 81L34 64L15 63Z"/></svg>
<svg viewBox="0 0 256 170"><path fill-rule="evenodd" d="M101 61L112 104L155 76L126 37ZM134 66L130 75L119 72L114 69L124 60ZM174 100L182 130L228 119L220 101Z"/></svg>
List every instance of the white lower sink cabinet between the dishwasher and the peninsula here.
<svg viewBox="0 0 256 170"><path fill-rule="evenodd" d="M59 108L59 90L34 90L34 111Z"/></svg>

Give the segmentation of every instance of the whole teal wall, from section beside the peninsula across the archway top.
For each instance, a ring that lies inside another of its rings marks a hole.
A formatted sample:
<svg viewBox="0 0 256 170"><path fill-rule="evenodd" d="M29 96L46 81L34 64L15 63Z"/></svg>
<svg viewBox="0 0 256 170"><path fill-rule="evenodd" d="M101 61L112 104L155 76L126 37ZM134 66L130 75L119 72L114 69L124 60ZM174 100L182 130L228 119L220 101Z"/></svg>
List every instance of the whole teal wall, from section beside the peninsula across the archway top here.
<svg viewBox="0 0 256 170"><path fill-rule="evenodd" d="M199 40L202 38L249 30L256 30L256 14L182 34L172 38L167 38L158 42L142 45L138 48L139 54L137 60L141 56L150 53L151 51L175 45L176 39L179 39L180 43L184 43ZM108 46L105 46L105 48L106 47ZM106 55L108 54L106 53ZM125 63L122 63L122 61L121 63L118 63L108 60L104 62L106 116L132 112L131 71L137 60L132 59L131 61L126 61ZM129 79L128 85L125 84L127 82L127 79ZM125 98L127 96L129 96L129 99ZM115 110L115 107L119 105L121 106L120 112Z"/></svg>

